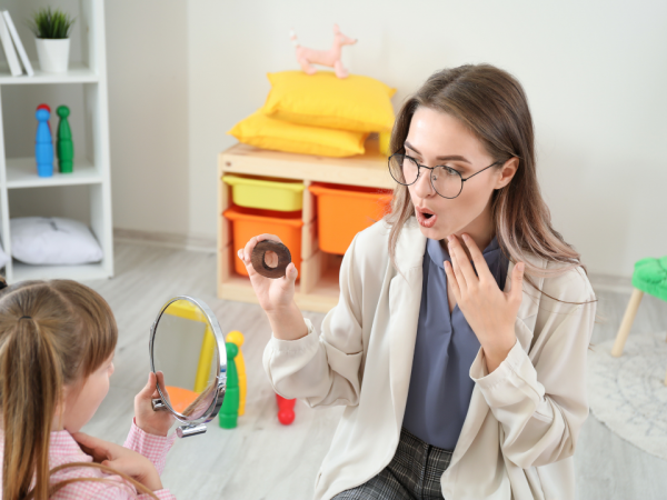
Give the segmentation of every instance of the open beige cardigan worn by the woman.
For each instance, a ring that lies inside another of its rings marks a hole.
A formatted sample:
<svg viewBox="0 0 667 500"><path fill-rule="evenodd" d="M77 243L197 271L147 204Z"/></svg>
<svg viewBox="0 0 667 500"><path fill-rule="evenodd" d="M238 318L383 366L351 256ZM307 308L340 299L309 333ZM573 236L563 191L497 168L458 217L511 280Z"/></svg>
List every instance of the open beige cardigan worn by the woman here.
<svg viewBox="0 0 667 500"><path fill-rule="evenodd" d="M319 337L306 320L306 337L271 338L265 350L265 370L279 394L311 407L347 407L317 476L316 499L368 481L398 446L426 237L414 218L401 231L396 261L405 278L390 263L388 237L384 221L356 236L340 269L339 303ZM549 267L541 259L531 262ZM537 284L560 300L595 299L580 268ZM586 352L595 310L595 303L558 302L524 283L517 343L491 374L481 349L470 367L472 399L441 479L447 500L575 498L573 454L588 416Z"/></svg>

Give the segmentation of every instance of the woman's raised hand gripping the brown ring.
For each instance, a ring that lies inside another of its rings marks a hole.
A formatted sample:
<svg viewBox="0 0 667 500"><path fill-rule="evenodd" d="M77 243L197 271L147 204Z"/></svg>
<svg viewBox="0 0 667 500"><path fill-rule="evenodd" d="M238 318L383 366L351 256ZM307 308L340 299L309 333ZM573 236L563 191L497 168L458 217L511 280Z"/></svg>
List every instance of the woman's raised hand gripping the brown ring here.
<svg viewBox="0 0 667 500"><path fill-rule="evenodd" d="M248 274L250 274L250 283L255 289L255 293L259 299L259 304L268 313L278 312L280 310L287 310L291 307L295 298L295 281L299 276L297 268L293 262L290 262L285 270L285 276L278 279L270 279L259 274L252 267L250 256L255 246L263 240L280 241L280 238L273 234L260 234L251 238L246 248L238 251L238 257L246 264ZM268 266L275 267L278 264L278 256L275 253L267 252L265 260Z"/></svg>

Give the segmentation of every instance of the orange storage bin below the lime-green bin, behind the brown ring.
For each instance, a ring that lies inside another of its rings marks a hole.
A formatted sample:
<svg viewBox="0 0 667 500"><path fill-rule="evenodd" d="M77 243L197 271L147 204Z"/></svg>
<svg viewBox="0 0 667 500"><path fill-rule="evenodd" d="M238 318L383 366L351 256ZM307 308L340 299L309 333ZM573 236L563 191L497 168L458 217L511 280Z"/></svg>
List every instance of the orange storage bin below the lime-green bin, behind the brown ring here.
<svg viewBox="0 0 667 500"><path fill-rule="evenodd" d="M280 212L275 210L246 209L231 207L222 212L231 221L233 269L248 276L246 266L238 258L237 251L243 248L250 238L259 234L276 234L289 248L292 262L301 273L301 212Z"/></svg>

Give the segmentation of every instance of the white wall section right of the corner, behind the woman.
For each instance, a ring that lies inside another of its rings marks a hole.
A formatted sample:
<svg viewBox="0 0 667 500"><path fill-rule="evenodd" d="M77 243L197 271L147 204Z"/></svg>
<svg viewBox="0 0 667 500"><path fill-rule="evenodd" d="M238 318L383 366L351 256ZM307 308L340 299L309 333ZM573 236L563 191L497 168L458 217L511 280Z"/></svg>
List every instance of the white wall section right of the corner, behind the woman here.
<svg viewBox="0 0 667 500"><path fill-rule="evenodd" d="M190 230L216 228L216 154L259 108L265 73L298 68L288 39L331 43L352 72L397 87L395 107L435 70L490 62L525 86L554 224L589 271L630 276L667 253L667 3L281 0L188 2Z"/></svg>

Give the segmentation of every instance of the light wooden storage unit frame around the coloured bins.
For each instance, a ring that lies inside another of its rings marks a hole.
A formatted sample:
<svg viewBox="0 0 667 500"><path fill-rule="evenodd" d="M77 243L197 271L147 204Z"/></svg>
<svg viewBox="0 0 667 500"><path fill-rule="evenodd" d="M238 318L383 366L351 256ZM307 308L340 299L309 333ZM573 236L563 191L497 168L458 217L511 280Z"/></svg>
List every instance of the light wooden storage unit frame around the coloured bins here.
<svg viewBox="0 0 667 500"><path fill-rule="evenodd" d="M295 300L300 309L327 312L338 303L338 271L342 257L320 251L317 241L315 197L311 182L365 186L394 189L387 169L387 157L369 140L366 153L350 158L325 158L269 151L248 144L236 144L218 156L218 297L257 303L250 280L233 272L233 259L242 244L232 247L229 222L222 212L231 204L230 187L222 182L226 173L300 180L303 190L303 228L301 236L301 274Z"/></svg>

